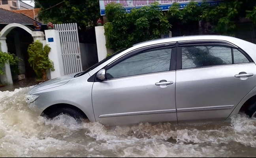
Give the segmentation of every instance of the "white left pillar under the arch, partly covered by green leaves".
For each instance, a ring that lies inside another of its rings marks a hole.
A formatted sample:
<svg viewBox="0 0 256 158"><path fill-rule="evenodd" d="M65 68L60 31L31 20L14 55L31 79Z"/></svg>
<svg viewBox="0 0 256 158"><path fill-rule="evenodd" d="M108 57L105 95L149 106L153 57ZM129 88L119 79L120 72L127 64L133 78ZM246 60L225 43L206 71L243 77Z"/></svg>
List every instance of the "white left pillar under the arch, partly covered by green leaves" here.
<svg viewBox="0 0 256 158"><path fill-rule="evenodd" d="M6 37L0 37L1 50L2 52L8 52L8 47L6 43ZM2 68L4 71L4 75L0 75L0 80L3 84L13 84L12 76L11 76L11 68L9 64L5 64L5 67Z"/></svg>

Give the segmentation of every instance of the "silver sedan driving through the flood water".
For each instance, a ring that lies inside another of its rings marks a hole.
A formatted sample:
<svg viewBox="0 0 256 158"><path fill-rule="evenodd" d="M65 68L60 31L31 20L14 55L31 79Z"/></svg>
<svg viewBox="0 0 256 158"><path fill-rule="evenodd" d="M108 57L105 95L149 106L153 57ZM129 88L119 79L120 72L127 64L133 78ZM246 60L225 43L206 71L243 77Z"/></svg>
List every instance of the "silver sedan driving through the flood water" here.
<svg viewBox="0 0 256 158"><path fill-rule="evenodd" d="M119 50L86 71L33 87L38 115L104 125L200 124L239 111L256 117L256 45L222 35L157 39Z"/></svg>

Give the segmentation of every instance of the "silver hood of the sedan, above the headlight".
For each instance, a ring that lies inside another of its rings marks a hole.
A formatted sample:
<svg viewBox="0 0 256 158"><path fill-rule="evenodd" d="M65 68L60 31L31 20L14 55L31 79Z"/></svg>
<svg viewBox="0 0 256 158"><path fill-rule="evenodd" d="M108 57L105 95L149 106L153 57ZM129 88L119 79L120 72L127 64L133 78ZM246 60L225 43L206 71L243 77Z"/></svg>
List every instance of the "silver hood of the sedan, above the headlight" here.
<svg viewBox="0 0 256 158"><path fill-rule="evenodd" d="M68 75L65 75L65 76L61 76L61 77L58 77L58 78L54 78L54 79L42 82L42 83L32 87L32 89L28 93L32 94L32 93L42 91L42 90L45 90L45 89L62 86L64 84L68 83L69 80L74 78L75 74L77 74L77 73L68 74Z"/></svg>

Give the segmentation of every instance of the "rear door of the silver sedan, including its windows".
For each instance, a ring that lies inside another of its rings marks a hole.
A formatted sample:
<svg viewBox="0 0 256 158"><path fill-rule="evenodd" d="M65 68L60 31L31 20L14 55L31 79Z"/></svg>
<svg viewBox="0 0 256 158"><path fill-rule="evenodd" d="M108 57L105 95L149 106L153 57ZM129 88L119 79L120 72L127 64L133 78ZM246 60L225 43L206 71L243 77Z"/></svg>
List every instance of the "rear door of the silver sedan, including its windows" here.
<svg viewBox="0 0 256 158"><path fill-rule="evenodd" d="M178 123L224 121L256 83L256 65L240 48L222 42L179 43Z"/></svg>

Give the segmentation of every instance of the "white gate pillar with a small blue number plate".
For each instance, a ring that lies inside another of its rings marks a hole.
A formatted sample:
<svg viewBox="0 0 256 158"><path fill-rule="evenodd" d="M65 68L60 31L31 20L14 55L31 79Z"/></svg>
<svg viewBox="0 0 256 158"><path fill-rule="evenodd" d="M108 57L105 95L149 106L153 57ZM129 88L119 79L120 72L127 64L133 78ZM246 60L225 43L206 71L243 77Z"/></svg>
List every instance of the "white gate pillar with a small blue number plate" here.
<svg viewBox="0 0 256 158"><path fill-rule="evenodd" d="M46 44L51 47L50 60L53 61L55 71L51 71L51 79L64 76L64 66L61 56L60 35L57 30L45 30Z"/></svg>

